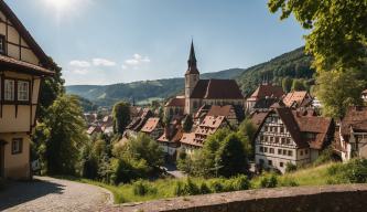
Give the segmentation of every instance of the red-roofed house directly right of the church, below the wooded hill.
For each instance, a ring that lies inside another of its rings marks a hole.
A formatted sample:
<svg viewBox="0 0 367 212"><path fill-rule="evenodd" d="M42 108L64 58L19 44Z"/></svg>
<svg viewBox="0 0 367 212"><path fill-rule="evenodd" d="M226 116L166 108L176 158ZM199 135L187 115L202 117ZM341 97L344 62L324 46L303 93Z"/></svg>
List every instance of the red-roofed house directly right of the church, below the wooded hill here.
<svg viewBox="0 0 367 212"><path fill-rule="evenodd" d="M246 112L252 113L255 109L268 109L277 100L284 96L281 86L272 85L271 83L263 82L259 87L246 99Z"/></svg>

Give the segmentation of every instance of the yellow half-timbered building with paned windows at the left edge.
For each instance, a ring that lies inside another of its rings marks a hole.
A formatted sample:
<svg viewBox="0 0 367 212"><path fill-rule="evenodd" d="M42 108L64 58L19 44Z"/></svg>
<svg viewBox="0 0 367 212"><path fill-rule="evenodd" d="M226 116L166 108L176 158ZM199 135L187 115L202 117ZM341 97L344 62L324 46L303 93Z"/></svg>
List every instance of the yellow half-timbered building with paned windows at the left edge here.
<svg viewBox="0 0 367 212"><path fill-rule="evenodd" d="M0 0L0 178L28 179L40 86L53 63Z"/></svg>

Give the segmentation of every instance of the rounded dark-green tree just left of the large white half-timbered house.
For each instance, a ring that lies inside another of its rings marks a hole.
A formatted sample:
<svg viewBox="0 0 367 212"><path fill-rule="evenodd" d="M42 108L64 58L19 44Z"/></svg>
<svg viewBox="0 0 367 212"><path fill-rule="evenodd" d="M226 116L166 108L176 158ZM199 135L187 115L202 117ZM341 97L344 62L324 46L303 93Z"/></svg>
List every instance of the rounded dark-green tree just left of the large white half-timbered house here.
<svg viewBox="0 0 367 212"><path fill-rule="evenodd" d="M226 137L216 155L220 176L229 178L248 171L248 149L245 142L246 138L236 132Z"/></svg>

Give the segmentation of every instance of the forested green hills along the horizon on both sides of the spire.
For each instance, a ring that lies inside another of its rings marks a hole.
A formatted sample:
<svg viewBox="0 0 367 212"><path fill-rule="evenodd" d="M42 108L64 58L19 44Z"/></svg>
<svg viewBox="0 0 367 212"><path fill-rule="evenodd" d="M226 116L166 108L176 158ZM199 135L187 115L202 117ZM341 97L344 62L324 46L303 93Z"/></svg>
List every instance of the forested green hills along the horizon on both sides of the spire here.
<svg viewBox="0 0 367 212"><path fill-rule="evenodd" d="M291 78L312 78L314 72L310 68L310 64L311 57L304 55L303 47L300 47L247 70L231 68L222 72L205 73L201 75L201 78L236 78L244 94L247 95L253 92L263 78L268 78L280 85L282 78L287 76ZM153 99L168 98L182 93L183 89L183 78L141 81L104 86L66 86L68 94L79 95L99 106L111 106L120 99L136 100L136 103L144 104Z"/></svg>

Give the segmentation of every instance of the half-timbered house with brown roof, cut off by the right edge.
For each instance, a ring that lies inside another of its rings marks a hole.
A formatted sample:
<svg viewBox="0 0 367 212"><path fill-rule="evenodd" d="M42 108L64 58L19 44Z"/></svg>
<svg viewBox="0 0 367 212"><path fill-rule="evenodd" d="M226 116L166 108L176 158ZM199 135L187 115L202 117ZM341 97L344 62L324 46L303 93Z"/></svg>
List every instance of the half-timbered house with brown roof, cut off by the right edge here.
<svg viewBox="0 0 367 212"><path fill-rule="evenodd" d="M336 136L335 150L343 161L367 158L367 107L348 107Z"/></svg>

